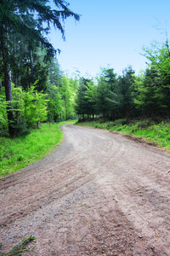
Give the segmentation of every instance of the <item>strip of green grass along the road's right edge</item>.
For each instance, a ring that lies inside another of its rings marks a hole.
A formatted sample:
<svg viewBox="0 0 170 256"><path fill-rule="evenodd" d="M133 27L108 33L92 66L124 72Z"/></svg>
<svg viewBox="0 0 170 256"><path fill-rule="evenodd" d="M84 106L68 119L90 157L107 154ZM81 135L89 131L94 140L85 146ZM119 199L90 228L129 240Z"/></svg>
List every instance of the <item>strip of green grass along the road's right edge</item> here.
<svg viewBox="0 0 170 256"><path fill-rule="evenodd" d="M77 123L77 125L92 126L94 128L130 134L135 137L143 137L147 142L156 143L158 146L170 149L170 121L155 123L153 120L143 119L127 122L126 119L117 119L116 121L105 123L91 121Z"/></svg>

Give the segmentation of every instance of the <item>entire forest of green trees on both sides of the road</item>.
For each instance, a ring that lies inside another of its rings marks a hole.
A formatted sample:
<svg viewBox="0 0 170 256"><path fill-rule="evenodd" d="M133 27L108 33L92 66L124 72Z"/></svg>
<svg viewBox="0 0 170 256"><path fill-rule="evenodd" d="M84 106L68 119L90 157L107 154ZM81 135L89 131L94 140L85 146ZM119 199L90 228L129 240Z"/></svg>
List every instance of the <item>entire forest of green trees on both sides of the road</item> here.
<svg viewBox="0 0 170 256"><path fill-rule="evenodd" d="M48 42L51 26L65 38L62 22L80 16L65 1L22 3L0 7L0 135L17 137L42 122L66 119L167 119L170 111L170 47L143 49L147 68L136 75L127 67L101 68L96 78L69 78L59 67Z"/></svg>

